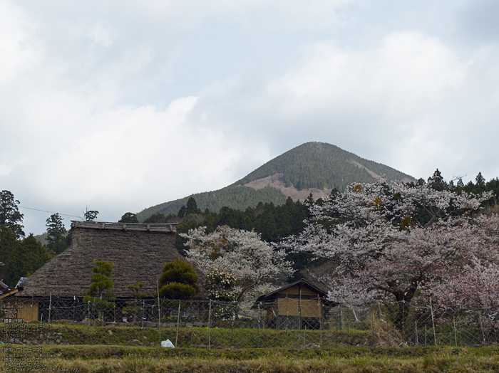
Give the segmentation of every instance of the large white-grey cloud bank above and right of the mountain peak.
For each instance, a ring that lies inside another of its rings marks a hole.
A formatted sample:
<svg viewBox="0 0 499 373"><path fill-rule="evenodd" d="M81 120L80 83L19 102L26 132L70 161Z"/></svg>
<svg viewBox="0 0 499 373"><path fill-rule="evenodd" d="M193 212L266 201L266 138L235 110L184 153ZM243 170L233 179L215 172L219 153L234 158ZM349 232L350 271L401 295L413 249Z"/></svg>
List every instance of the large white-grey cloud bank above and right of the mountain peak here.
<svg viewBox="0 0 499 373"><path fill-rule="evenodd" d="M213 127L260 137L279 152L320 140L416 177L436 167L450 177L478 168L494 177L497 167L480 162L490 159L495 138L483 134L499 131L492 125L497 52L481 48L463 58L414 30L391 32L360 51L321 41L280 76L217 81L198 105Z"/></svg>

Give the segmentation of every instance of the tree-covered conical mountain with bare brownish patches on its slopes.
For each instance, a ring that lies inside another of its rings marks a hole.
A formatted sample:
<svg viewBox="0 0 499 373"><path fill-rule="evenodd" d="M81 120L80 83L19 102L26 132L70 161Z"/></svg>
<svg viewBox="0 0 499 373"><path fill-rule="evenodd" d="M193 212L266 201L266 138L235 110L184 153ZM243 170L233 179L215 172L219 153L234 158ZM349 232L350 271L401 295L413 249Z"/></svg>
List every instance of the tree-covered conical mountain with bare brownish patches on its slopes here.
<svg viewBox="0 0 499 373"><path fill-rule="evenodd" d="M234 184L217 191L192 194L202 211L219 211L223 206L246 209L259 201L284 204L287 197L304 200L310 193L323 198L336 188L344 191L351 183L376 179L415 181L391 167L356 156L324 142L307 142L255 169ZM138 213L139 221L153 214L177 214L191 197L158 204Z"/></svg>

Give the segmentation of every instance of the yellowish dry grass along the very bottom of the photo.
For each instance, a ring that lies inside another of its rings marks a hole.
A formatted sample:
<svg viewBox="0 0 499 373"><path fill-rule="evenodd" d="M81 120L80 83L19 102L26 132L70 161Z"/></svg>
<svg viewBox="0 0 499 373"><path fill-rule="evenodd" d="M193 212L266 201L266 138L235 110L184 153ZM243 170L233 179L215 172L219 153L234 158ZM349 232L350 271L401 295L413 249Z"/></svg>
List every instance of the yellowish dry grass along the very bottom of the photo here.
<svg viewBox="0 0 499 373"><path fill-rule="evenodd" d="M341 349L340 349L341 350ZM349 350L356 350L350 348ZM378 349L372 354L369 349L359 349L351 356L336 354L336 349L322 351L320 356L294 357L279 351L270 351L268 356L254 358L226 357L215 353L212 357L165 356L147 357L130 354L123 358L110 359L46 359L48 368L65 368L69 372L498 372L499 350L494 349L402 349L418 350L416 356L402 354L393 356L393 350ZM192 351L191 351L192 352ZM341 351L340 351L341 352ZM351 351L353 352L353 351ZM196 354L196 351L193 351ZM203 352L205 354L205 352ZM61 370L61 369L60 369ZM0 368L5 372L5 368Z"/></svg>

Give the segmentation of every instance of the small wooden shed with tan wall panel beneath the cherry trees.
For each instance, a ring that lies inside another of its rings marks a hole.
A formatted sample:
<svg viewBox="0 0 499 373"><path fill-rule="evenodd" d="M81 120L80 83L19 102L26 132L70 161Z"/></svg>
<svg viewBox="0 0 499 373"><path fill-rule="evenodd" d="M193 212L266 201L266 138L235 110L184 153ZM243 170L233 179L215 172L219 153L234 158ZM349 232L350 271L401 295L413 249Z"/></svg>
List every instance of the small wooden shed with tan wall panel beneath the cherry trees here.
<svg viewBox="0 0 499 373"><path fill-rule="evenodd" d="M261 295L252 308L267 311L267 327L320 329L327 293L302 279Z"/></svg>

